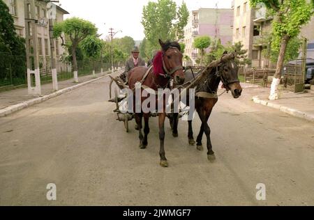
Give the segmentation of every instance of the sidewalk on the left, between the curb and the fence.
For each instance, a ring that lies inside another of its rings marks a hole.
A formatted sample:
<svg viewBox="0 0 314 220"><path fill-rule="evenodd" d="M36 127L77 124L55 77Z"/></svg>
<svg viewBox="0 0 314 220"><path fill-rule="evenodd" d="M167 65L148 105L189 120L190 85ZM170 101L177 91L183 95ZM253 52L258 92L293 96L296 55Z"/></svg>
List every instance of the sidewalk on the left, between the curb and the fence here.
<svg viewBox="0 0 314 220"><path fill-rule="evenodd" d="M102 77L105 74L109 74L109 73L110 72L103 72L103 74L98 73L96 74L96 78ZM94 79L93 74L79 77L78 84L84 83L91 79ZM67 79L65 81L58 82L59 90L62 90L63 88L75 86L75 85L77 85L77 83L75 83L73 79ZM52 90L52 83L41 85L41 93L42 93L41 96L54 93L54 91ZM6 107L10 107L15 104L20 104L21 102L32 100L36 97L39 97L39 96L27 95L27 88L16 88L11 91L1 92L0 93L0 110L5 109Z"/></svg>

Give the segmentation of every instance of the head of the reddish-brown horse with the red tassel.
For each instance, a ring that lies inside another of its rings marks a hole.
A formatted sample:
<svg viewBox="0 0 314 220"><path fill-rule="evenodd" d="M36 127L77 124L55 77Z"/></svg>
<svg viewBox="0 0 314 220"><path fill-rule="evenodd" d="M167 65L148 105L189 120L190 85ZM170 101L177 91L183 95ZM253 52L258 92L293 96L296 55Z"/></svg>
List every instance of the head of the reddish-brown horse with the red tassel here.
<svg viewBox="0 0 314 220"><path fill-rule="evenodd" d="M162 48L163 71L167 77L174 79L177 85L184 84L183 54L178 42L163 42L159 39Z"/></svg>

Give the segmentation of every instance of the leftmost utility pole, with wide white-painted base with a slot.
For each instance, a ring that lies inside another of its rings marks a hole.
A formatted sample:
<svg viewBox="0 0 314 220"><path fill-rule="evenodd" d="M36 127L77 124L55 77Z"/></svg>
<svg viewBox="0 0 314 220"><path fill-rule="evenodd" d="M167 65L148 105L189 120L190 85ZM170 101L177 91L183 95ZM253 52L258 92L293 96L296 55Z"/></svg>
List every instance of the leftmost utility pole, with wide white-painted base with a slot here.
<svg viewBox="0 0 314 220"><path fill-rule="evenodd" d="M24 1L26 52L27 52L27 86L29 95L41 95L40 70L38 56L37 22L35 0ZM35 85L33 86L33 77Z"/></svg>

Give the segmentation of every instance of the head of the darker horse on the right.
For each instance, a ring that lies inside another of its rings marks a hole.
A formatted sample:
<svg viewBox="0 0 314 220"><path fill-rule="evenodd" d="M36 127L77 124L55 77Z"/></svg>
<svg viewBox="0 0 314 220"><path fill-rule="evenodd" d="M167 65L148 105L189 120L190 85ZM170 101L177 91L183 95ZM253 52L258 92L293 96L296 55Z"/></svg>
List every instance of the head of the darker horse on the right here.
<svg viewBox="0 0 314 220"><path fill-rule="evenodd" d="M226 54L227 52L223 56ZM223 81L223 87L227 91L231 91L233 97L237 99L241 96L242 87L238 77L238 65L234 58L222 62L220 66L220 78Z"/></svg>

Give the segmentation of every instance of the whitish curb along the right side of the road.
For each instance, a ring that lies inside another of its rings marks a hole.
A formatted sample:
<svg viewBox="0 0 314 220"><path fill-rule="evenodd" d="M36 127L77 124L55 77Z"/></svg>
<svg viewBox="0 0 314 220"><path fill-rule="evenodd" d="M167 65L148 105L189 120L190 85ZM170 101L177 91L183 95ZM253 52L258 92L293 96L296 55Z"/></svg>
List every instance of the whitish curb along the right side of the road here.
<svg viewBox="0 0 314 220"><path fill-rule="evenodd" d="M265 100L261 100L260 97L258 97L258 95L253 97L252 100L256 104L262 104L262 105L264 105L266 107L271 107L273 109L277 109L277 110L282 111L284 113L290 114L291 116L294 116L294 117L297 117L297 118L303 118L305 120L309 120L311 122L314 122L314 115L305 113L303 111L299 111L297 109L291 109L291 108L288 108L288 107L283 107L283 106L281 106L279 104L274 104L274 103L267 102Z"/></svg>

